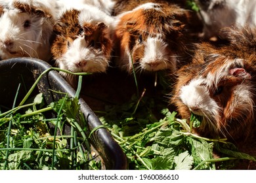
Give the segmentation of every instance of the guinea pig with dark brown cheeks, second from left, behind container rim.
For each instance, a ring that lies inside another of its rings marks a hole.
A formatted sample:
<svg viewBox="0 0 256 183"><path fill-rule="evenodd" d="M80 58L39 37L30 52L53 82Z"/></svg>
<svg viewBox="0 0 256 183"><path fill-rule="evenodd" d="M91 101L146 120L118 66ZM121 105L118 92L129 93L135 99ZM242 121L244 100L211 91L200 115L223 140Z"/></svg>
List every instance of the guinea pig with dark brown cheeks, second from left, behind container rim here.
<svg viewBox="0 0 256 183"><path fill-rule="evenodd" d="M73 73L105 72L112 52L112 21L111 16L93 6L62 12L53 27L56 37L51 52L56 65Z"/></svg>

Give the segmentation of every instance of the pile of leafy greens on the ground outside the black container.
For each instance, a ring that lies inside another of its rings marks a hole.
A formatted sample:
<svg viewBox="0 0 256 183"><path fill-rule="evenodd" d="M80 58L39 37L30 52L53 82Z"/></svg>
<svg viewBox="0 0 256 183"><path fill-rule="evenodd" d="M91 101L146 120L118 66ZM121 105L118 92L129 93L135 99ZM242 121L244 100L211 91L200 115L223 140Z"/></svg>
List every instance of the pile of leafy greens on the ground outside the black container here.
<svg viewBox="0 0 256 183"><path fill-rule="evenodd" d="M162 83L165 83L161 81ZM138 85L139 83L136 82ZM163 87L165 88L165 87ZM207 139L192 133L200 118L192 115L190 124L170 112L163 96L133 95L122 105L106 107L99 114L127 155L128 169L230 169L239 159L256 161L226 139ZM213 152L221 158L213 156Z"/></svg>

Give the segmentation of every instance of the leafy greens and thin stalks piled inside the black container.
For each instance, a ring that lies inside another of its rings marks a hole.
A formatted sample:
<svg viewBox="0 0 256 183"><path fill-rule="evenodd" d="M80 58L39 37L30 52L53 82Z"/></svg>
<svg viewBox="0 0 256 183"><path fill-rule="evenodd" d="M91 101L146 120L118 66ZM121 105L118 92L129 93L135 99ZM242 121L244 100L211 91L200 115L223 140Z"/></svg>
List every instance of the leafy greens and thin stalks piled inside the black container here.
<svg viewBox="0 0 256 183"><path fill-rule="evenodd" d="M0 105L0 169L101 169L79 110L79 90L45 105L42 93L30 96L38 80L17 107L16 97L11 109L3 112Z"/></svg>

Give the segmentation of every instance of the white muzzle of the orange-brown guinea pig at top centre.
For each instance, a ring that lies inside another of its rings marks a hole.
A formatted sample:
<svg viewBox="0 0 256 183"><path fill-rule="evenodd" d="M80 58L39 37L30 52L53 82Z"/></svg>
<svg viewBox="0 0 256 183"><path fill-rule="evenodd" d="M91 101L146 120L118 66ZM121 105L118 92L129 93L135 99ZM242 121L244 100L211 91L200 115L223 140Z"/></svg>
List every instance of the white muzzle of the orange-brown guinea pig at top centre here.
<svg viewBox="0 0 256 183"><path fill-rule="evenodd" d="M142 69L160 71L170 67L176 67L176 59L175 57L169 58L168 52L166 52L167 43L161 39L160 35L148 37L143 44L145 44L144 57L140 62Z"/></svg>

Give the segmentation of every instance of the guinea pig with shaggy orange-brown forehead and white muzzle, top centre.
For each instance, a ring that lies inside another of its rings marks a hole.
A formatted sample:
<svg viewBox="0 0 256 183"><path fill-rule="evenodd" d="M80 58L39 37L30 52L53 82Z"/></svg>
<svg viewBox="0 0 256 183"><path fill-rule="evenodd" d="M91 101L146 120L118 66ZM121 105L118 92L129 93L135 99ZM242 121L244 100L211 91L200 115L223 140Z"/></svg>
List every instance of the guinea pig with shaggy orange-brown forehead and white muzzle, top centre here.
<svg viewBox="0 0 256 183"><path fill-rule="evenodd" d="M144 3L118 14L114 25L116 64L128 73L133 69L176 69L190 41L188 20L188 10L167 1Z"/></svg>

